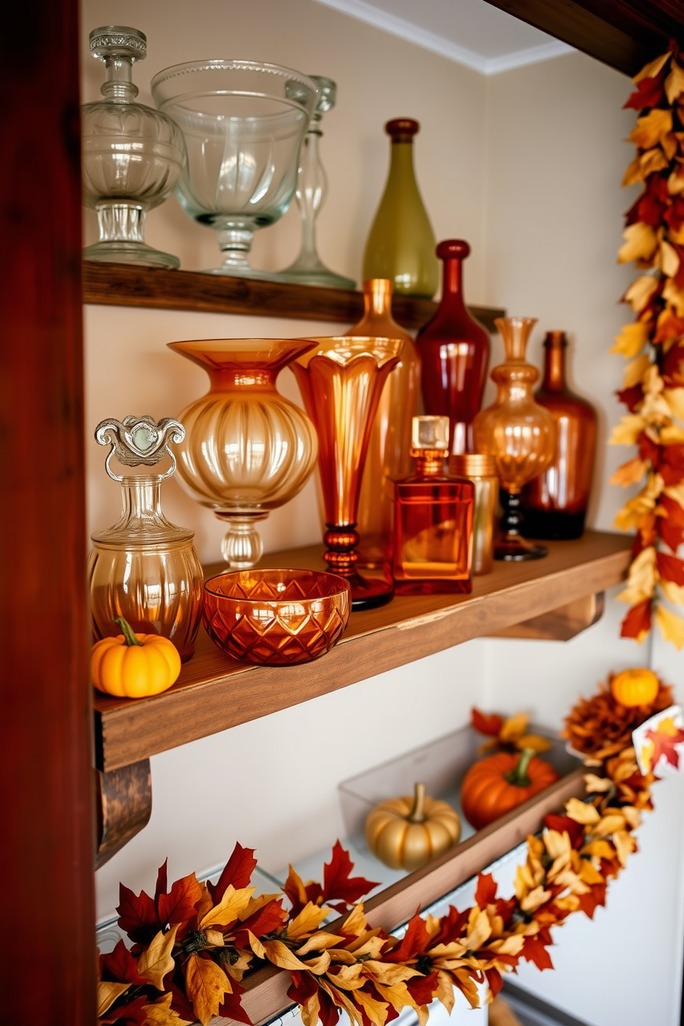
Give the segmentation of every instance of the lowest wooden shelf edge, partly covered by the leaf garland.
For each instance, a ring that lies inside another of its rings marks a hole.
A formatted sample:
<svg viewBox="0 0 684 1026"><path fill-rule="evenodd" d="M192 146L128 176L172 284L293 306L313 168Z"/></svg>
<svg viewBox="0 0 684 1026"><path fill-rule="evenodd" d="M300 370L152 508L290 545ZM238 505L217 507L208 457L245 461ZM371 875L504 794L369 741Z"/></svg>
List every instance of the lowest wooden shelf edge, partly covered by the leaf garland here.
<svg viewBox="0 0 684 1026"><path fill-rule="evenodd" d="M364 903L366 918L371 926L384 926L388 932L406 922L416 909L426 909L440 898L466 883L485 867L522 843L530 833L537 832L549 813L560 812L571 797L585 793L584 766L577 766L556 784L535 795L484 830L478 830L462 844L446 852L439 859L410 873ZM331 933L335 925L330 923ZM287 996L289 976L275 968L258 970L243 980L246 991L242 1007L255 1024L264 1023L291 1005ZM233 1024L235 1020L217 1018L215 1026Z"/></svg>

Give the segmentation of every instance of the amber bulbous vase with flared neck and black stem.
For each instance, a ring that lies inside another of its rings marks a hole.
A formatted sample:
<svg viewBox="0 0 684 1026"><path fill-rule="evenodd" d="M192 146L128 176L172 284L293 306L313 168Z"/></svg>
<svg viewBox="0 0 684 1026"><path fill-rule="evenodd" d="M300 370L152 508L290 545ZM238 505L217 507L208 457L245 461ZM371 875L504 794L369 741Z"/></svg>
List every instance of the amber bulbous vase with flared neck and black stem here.
<svg viewBox="0 0 684 1026"><path fill-rule="evenodd" d="M504 339L506 360L491 371L496 399L473 422L475 446L494 458L504 489L502 537L494 547L495 559L538 559L542 545L521 537L520 490L549 466L556 447L556 422L534 401L532 386L539 371L525 361L534 317L500 317L495 321Z"/></svg>

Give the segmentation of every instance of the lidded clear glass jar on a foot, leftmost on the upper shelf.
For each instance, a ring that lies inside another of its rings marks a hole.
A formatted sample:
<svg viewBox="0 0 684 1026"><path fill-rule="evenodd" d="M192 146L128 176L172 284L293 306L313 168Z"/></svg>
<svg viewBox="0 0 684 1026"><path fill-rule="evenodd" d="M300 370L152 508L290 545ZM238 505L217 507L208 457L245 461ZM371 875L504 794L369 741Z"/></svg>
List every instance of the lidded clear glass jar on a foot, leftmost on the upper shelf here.
<svg viewBox="0 0 684 1026"><path fill-rule="evenodd" d="M104 100L81 108L83 202L97 213L99 240L85 260L176 268L177 256L145 242L148 210L173 192L186 161L183 132L168 115L136 104L133 62L147 39L108 25L90 33L90 52L107 68Z"/></svg>

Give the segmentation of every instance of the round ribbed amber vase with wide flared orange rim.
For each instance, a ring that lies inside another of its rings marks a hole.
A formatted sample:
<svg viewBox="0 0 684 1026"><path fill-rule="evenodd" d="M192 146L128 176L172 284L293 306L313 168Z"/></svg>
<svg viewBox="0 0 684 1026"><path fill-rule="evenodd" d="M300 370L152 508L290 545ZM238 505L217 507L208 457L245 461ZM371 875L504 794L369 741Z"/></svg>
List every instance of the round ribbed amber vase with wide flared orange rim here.
<svg viewBox="0 0 684 1026"><path fill-rule="evenodd" d="M314 348L303 339L171 342L169 349L209 374L206 395L178 420L178 477L202 506L228 522L222 553L235 569L260 558L255 524L300 490L316 465L317 439L304 410L276 390L276 378Z"/></svg>

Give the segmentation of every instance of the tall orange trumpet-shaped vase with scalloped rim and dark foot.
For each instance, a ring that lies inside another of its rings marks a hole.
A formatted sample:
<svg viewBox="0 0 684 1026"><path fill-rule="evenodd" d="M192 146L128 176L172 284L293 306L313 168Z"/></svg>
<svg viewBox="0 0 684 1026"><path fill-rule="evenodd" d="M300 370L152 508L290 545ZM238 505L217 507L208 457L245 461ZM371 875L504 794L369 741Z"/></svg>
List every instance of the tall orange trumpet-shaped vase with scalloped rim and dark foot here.
<svg viewBox="0 0 684 1026"><path fill-rule="evenodd" d="M314 348L296 359L292 370L318 431L324 559L350 582L352 608L369 608L392 598L392 582L357 570L357 511L373 418L402 343L363 336L311 341Z"/></svg>

